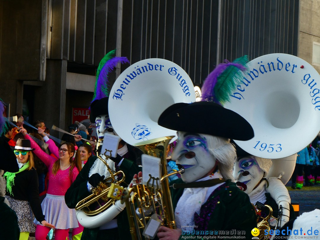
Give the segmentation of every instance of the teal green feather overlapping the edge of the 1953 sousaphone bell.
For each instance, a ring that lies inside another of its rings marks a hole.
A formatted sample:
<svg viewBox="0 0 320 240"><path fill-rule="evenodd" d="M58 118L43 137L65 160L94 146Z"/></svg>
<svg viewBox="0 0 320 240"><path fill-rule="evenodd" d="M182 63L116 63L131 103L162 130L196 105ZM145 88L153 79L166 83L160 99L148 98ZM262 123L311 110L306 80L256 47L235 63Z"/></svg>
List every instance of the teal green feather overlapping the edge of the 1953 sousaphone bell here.
<svg viewBox="0 0 320 240"><path fill-rule="evenodd" d="M248 63L248 56L244 55L237 58L232 63L240 64L244 68L239 68L238 66L228 66L226 70L218 77L217 83L214 86L214 93L216 99L223 105L224 102L229 101L230 94L240 84L243 79L242 72L247 70L246 64Z"/></svg>

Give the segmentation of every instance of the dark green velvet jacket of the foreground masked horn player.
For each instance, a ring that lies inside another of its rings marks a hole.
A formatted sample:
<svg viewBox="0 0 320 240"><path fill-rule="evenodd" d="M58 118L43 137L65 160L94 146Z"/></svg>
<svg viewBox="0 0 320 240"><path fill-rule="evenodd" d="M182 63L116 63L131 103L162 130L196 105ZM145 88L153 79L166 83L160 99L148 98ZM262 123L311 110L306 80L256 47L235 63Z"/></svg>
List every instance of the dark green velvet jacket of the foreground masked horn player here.
<svg viewBox="0 0 320 240"><path fill-rule="evenodd" d="M170 185L173 183L183 183L183 181L177 179L170 182ZM183 190L183 188L171 188L173 209L176 208ZM214 190L206 203L216 196L220 196L219 204L216 205L210 216L207 230L245 230L245 239L251 239L251 230L257 227L257 220L249 196L231 180L227 180L223 188ZM183 239L183 236L194 236L196 238L196 235L181 235L179 239Z"/></svg>

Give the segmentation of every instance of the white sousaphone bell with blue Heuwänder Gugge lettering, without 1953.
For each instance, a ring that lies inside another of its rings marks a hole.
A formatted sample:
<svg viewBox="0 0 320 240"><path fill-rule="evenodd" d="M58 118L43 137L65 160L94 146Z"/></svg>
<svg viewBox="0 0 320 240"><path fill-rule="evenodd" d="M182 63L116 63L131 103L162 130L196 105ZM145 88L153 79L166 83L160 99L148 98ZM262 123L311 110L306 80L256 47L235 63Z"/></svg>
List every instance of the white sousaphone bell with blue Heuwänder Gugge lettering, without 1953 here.
<svg viewBox="0 0 320 240"><path fill-rule="evenodd" d="M109 117L116 133L132 146L176 136L158 125L169 106L196 101L193 83L177 64L158 58L141 60L125 69L109 96ZM173 138L174 139L174 138Z"/></svg>

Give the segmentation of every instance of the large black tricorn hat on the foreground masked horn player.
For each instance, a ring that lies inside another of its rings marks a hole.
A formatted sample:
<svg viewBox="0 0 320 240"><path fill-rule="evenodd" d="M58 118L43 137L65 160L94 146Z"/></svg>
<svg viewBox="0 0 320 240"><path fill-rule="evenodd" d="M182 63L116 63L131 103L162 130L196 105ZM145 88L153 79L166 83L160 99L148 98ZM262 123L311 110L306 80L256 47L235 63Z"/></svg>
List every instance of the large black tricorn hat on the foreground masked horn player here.
<svg viewBox="0 0 320 240"><path fill-rule="evenodd" d="M236 112L213 102L175 103L165 109L158 124L182 132L249 140L254 137L251 125Z"/></svg>

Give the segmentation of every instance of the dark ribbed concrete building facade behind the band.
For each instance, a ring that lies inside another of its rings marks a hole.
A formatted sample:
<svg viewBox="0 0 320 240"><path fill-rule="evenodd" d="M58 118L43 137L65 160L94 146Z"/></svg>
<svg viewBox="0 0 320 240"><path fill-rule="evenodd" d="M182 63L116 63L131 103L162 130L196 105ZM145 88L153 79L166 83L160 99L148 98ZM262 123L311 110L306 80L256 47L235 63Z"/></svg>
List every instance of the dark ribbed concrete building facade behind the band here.
<svg viewBox="0 0 320 240"><path fill-rule="evenodd" d="M72 108L89 106L96 68L113 49L131 63L171 60L198 85L244 54L282 52L313 64L319 9L319 0L2 0L0 97L11 116L66 129ZM128 66L109 76L110 88Z"/></svg>

